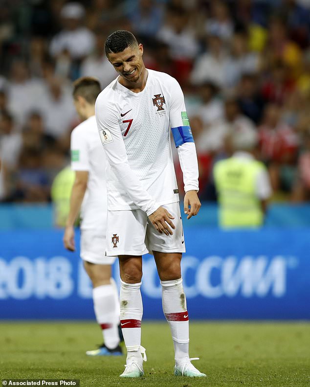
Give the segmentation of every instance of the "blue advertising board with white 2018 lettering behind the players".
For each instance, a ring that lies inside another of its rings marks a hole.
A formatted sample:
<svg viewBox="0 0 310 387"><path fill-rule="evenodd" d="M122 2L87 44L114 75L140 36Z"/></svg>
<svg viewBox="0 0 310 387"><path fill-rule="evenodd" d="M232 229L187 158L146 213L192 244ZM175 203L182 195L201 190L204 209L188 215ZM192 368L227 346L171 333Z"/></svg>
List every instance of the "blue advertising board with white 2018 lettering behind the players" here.
<svg viewBox="0 0 310 387"><path fill-rule="evenodd" d="M192 319L310 319L310 229L185 228L182 275ZM0 234L0 319L93 319L91 284L62 230ZM79 235L77 233L77 245ZM119 282L118 263L113 266ZM144 319L163 319L151 255Z"/></svg>

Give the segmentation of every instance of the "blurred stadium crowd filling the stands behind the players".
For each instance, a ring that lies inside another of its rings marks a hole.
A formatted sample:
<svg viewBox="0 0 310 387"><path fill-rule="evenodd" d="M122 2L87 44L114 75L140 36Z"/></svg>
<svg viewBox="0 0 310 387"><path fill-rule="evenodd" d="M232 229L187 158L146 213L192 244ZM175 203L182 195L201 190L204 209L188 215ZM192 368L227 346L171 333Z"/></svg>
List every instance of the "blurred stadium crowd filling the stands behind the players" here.
<svg viewBox="0 0 310 387"><path fill-rule="evenodd" d="M1 201L50 200L78 124L71 83L115 78L103 46L116 29L181 84L202 200L236 133L257 136L274 200L310 200L310 0L2 0Z"/></svg>

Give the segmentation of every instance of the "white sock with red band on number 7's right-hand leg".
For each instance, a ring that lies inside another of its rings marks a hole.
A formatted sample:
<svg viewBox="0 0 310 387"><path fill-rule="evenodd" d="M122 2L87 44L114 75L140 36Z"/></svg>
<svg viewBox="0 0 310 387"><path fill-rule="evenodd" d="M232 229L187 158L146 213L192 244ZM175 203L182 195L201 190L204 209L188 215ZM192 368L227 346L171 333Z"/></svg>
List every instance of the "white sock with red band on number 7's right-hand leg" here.
<svg viewBox="0 0 310 387"><path fill-rule="evenodd" d="M162 309L170 325L176 364L181 364L189 359L189 323L182 278L160 283Z"/></svg>

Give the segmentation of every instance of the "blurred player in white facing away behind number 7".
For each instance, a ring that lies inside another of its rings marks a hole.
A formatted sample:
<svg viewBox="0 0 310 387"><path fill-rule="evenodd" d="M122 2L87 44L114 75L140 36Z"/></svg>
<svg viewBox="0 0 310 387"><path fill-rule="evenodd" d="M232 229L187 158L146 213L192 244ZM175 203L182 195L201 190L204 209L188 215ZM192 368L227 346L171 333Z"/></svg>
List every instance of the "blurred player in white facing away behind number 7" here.
<svg viewBox="0 0 310 387"><path fill-rule="evenodd" d="M115 257L105 256L107 225L106 156L98 138L95 101L101 91L96 78L83 77L73 84L74 106L83 122L71 134L71 168L75 181L70 197L64 244L74 251L74 223L81 209L81 258L93 286L94 311L104 344L88 355L121 355L119 300L111 277Z"/></svg>

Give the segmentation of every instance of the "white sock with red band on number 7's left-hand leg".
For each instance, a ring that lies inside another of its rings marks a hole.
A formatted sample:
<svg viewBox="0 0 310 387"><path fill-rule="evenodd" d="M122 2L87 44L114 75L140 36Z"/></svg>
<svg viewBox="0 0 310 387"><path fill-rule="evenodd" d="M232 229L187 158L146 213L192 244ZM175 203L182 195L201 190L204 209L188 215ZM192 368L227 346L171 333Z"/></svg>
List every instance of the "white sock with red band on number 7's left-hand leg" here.
<svg viewBox="0 0 310 387"><path fill-rule="evenodd" d="M143 314L140 293L141 282L128 284L121 281L119 303L121 309L121 328L127 348L127 360L135 358L141 362L141 319Z"/></svg>

